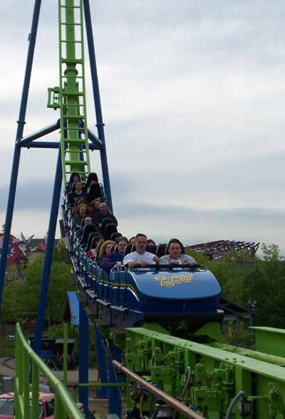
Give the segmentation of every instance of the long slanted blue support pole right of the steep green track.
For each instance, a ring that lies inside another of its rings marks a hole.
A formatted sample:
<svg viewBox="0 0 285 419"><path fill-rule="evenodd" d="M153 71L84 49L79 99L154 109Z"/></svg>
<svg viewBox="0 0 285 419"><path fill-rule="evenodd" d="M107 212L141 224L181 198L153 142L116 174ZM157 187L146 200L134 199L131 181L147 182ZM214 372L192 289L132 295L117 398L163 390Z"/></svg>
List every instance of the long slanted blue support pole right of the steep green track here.
<svg viewBox="0 0 285 419"><path fill-rule="evenodd" d="M96 113L96 121L97 121L96 126L98 129L98 137L100 141L102 141L102 148L100 148L100 158L101 158L101 166L102 166L102 174L103 174L103 183L104 183L105 194L107 196L108 206L110 208L110 211L113 212L110 177L109 177L109 171L108 171L108 159L107 159L107 151L106 151L106 145L105 145L104 123L103 123L102 108L101 108L101 102L100 102L100 91L99 91L96 59L95 59L95 47L94 47L89 0L83 0L83 6L84 6L84 16L85 16L85 22L86 22L86 34L87 34L87 41L88 41L90 72L91 72L91 79L92 79L92 86L93 86L93 97L94 97L94 102L95 102L95 113Z"/></svg>

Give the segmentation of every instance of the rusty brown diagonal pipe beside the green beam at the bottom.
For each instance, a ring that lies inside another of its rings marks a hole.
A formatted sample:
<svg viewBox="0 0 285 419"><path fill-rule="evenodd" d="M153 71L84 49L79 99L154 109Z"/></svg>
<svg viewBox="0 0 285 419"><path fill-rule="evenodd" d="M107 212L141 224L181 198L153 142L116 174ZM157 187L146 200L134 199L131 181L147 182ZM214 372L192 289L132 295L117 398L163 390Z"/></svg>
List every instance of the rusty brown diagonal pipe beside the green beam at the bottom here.
<svg viewBox="0 0 285 419"><path fill-rule="evenodd" d="M176 400L171 395L166 394L164 391L148 383L148 381L144 380L142 377L140 377L140 375L133 373L133 371L129 370L128 368L125 368L123 364L119 363L117 360L113 360L113 365L120 373L127 375L136 383L139 383L143 388L148 390L160 400L163 400L167 405L182 413L182 415L185 415L186 418L201 419L201 416L195 413L193 410L190 410L190 408L187 408L187 406L180 403L180 401Z"/></svg>

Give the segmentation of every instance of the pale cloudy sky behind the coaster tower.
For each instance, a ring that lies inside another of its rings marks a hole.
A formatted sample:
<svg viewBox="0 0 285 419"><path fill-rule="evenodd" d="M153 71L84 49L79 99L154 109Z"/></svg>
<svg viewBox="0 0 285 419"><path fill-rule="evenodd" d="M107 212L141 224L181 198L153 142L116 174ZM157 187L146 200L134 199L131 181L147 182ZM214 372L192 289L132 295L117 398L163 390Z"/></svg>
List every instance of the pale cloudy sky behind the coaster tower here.
<svg viewBox="0 0 285 419"><path fill-rule="evenodd" d="M24 136L58 119L46 108L47 88L58 85L57 3L42 1ZM276 243L285 251L284 1L90 6L119 231L185 244ZM32 12L32 0L0 3L0 223ZM86 91L96 133L87 49ZM56 153L22 151L15 236L46 234ZM101 176L96 151L91 164Z"/></svg>

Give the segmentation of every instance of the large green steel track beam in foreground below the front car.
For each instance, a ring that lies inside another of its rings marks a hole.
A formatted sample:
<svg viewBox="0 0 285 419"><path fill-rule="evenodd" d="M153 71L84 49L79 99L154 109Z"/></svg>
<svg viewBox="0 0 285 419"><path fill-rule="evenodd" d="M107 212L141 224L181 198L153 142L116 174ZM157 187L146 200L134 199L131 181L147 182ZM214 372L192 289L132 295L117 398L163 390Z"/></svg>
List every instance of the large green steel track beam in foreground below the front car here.
<svg viewBox="0 0 285 419"><path fill-rule="evenodd" d="M224 343L220 347L227 348ZM229 349L229 348L227 348ZM204 417L221 419L239 391L246 395L235 405L231 419L283 419L285 415L285 369L283 359L254 351L229 352L209 345L175 338L145 328L126 329L125 365L181 398ZM276 363L274 363L275 361ZM185 374L191 371L188 388ZM130 396L127 398L130 408ZM149 400L145 400L147 409ZM247 416L242 416L247 411Z"/></svg>

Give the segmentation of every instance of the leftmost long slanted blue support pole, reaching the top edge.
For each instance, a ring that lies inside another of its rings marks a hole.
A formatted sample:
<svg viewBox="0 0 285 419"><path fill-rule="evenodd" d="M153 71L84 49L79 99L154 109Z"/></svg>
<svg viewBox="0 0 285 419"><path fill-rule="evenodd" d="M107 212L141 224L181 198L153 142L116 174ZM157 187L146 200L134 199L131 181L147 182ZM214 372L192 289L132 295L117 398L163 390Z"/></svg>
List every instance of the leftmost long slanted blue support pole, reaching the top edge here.
<svg viewBox="0 0 285 419"><path fill-rule="evenodd" d="M18 140L18 138L22 138L23 132L24 132L24 125L26 123L25 122L26 106L28 102L28 90L29 90L30 81L31 81L31 69L33 66L33 54L34 54L35 45L36 45L36 33L38 30L38 18L40 15L40 10L41 10L41 0L35 0L34 6L33 6L33 20L31 24L31 34L28 39L28 42L29 42L28 43L28 56L27 56L27 61L26 61L24 85L23 85L23 91L22 91L22 96L21 96L19 120L17 121L18 128L16 131L16 141ZM21 156L21 147L15 144L9 196L8 196L8 203L7 203L7 211L6 211L6 219L5 219L4 238L3 238L1 261L0 261L0 308L1 308L2 296L3 296L6 262L7 262L8 249L9 249L9 237L11 233L11 224L12 224L13 211L14 211L16 184L17 184L17 178L18 178L20 156Z"/></svg>

